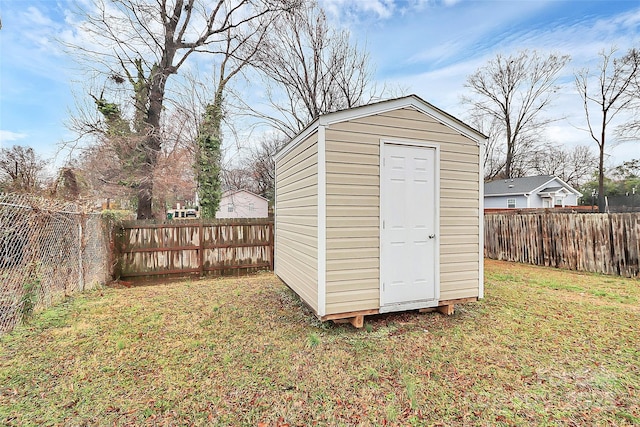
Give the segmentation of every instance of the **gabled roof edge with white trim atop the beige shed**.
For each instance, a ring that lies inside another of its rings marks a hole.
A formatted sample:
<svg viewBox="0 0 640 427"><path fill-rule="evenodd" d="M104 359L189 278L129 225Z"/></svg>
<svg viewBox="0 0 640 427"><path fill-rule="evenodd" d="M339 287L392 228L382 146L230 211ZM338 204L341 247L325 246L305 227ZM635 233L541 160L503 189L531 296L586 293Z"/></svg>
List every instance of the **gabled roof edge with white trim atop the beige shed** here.
<svg viewBox="0 0 640 427"><path fill-rule="evenodd" d="M323 114L313 122L309 123L297 136L295 136L288 144L286 144L275 158L278 159L295 148L299 143L305 140L309 135L315 132L320 126L328 126L334 123L340 123L348 120L354 120L360 117L372 116L387 111L393 111L400 108L413 108L426 114L441 123L460 132L462 135L476 141L478 144L484 144L487 137L476 129L472 128L462 120L452 116L451 114L428 103L418 95L408 95L401 98L388 99L385 101L375 102L360 107L349 108L346 110L335 111Z"/></svg>

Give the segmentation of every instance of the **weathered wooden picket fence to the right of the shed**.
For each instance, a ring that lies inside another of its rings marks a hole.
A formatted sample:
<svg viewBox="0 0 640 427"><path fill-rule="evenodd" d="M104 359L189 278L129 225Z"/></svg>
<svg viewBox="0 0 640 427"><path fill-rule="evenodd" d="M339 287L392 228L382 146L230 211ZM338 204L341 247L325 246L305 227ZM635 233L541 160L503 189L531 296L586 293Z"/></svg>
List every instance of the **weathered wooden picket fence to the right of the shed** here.
<svg viewBox="0 0 640 427"><path fill-rule="evenodd" d="M640 213L485 214L484 218L487 258L640 276Z"/></svg>

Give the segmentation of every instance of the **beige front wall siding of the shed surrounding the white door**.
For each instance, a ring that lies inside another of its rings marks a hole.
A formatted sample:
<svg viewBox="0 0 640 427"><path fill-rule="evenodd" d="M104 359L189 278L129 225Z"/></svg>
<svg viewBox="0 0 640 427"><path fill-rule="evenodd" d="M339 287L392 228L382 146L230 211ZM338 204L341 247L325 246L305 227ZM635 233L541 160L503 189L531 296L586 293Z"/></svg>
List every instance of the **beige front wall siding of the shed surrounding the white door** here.
<svg viewBox="0 0 640 427"><path fill-rule="evenodd" d="M406 108L326 129L326 313L380 305L380 139L440 146L440 299L477 297L480 149L475 141Z"/></svg>

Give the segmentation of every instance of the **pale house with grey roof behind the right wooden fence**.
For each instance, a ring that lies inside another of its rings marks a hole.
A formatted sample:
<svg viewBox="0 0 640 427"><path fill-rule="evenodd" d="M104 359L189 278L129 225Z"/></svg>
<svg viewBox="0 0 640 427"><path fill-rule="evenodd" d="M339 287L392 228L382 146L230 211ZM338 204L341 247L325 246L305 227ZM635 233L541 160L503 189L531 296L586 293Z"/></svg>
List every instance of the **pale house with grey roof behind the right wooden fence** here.
<svg viewBox="0 0 640 427"><path fill-rule="evenodd" d="M575 188L550 175L499 179L484 184L485 209L527 209L577 206Z"/></svg>

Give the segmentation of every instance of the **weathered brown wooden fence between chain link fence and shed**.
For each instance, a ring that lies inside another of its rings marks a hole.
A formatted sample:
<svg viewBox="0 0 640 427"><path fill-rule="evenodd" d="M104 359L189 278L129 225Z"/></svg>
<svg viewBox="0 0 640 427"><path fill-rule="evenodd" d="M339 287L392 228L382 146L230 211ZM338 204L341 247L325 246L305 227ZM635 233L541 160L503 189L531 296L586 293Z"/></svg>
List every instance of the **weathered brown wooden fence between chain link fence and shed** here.
<svg viewBox="0 0 640 427"><path fill-rule="evenodd" d="M273 269L273 221L266 218L130 221L118 242L116 274L122 278Z"/></svg>

